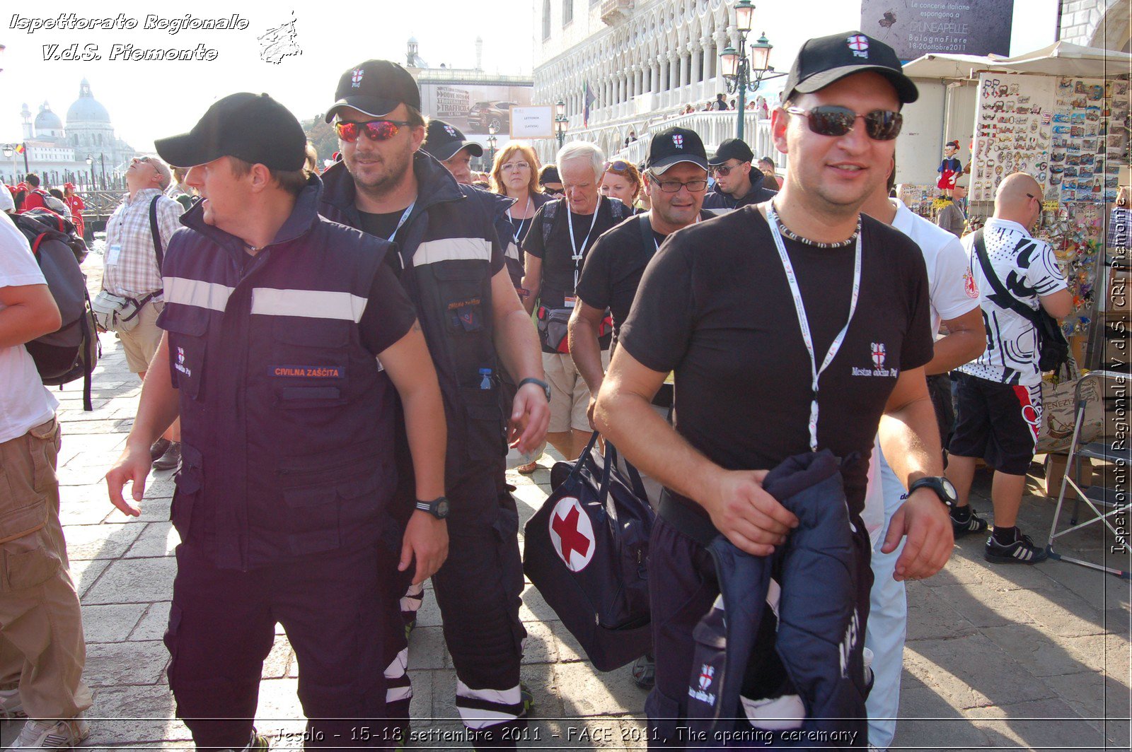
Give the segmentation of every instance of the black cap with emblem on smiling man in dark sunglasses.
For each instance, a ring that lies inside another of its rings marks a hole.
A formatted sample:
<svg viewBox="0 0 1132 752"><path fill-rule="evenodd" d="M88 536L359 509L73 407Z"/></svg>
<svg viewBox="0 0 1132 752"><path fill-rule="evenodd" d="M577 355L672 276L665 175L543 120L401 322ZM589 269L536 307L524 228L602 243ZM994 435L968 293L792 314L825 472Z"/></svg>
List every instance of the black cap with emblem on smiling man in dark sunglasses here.
<svg viewBox="0 0 1132 752"><path fill-rule="evenodd" d="M867 70L889 79L901 104L919 98L912 79L904 76L897 51L861 32L841 32L807 40L798 51L782 89L782 101L795 93L811 94L846 76Z"/></svg>

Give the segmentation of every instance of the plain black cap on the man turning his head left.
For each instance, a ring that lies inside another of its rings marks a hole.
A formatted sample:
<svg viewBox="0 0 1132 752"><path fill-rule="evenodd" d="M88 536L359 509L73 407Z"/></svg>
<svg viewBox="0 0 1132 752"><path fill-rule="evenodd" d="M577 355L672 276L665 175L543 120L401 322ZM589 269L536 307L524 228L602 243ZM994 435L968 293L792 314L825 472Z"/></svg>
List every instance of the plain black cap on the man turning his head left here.
<svg viewBox="0 0 1132 752"><path fill-rule="evenodd" d="M272 170L301 170L307 135L291 111L267 94L240 92L214 102L188 133L158 138L162 159L178 167L235 157Z"/></svg>

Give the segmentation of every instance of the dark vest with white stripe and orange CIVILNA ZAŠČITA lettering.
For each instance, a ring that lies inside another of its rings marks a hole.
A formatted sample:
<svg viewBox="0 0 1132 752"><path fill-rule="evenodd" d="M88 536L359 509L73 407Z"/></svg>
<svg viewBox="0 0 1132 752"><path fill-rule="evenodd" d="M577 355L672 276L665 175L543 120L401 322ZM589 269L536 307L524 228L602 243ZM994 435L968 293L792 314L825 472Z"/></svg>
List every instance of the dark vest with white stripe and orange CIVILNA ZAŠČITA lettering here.
<svg viewBox="0 0 1132 752"><path fill-rule="evenodd" d="M395 392L358 321L388 243L327 222L303 189L255 257L200 205L163 268L182 461L172 520L223 568L388 533Z"/></svg>

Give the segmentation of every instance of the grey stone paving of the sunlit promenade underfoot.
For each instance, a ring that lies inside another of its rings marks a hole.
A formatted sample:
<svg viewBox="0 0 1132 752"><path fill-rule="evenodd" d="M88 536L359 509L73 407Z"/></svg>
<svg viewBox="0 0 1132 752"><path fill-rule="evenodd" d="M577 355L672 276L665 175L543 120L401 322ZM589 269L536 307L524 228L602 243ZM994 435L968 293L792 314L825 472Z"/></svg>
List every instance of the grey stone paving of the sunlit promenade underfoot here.
<svg viewBox="0 0 1132 752"><path fill-rule="evenodd" d="M101 263L92 256L88 266ZM91 268L92 277L97 269ZM92 280L93 282L93 280ZM151 476L139 518L110 505L102 475L121 451L140 384L112 335L103 335L94 412L78 384L60 399L62 522L83 600L85 680L94 690L93 735L84 749L191 749L173 717L161 641L169 612L178 537L169 522L171 473ZM549 465L551 460L543 458ZM549 469L511 475L525 521L549 491ZM1031 478L1021 525L1044 541L1054 501ZM980 473L974 505L989 510ZM1074 548L1099 560L1110 543L1092 529ZM936 577L908 587L901 721L893 749L1129 749L1130 584L1065 562L992 567L981 539L964 538ZM1110 560L1112 561L1112 560ZM1129 569L1127 557L1115 564ZM600 673L530 585L522 617L530 632L523 680L538 717L531 746L643 749L645 693L628 668ZM436 600L427 594L412 636L410 666L417 749L466 749L453 703L455 672L444 648ZM282 630L264 665L257 726L273 749L301 749L298 665ZM0 726L10 743L18 723ZM426 735L435 729L431 735ZM453 741L456 740L456 741Z"/></svg>

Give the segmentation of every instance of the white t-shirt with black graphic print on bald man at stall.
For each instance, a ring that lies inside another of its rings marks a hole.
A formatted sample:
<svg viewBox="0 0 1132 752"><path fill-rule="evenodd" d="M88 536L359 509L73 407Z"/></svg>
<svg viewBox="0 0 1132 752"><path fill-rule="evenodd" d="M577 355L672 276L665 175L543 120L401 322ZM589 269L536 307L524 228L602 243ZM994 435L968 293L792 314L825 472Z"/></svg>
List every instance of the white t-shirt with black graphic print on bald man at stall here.
<svg viewBox="0 0 1132 752"><path fill-rule="evenodd" d="M1049 243L1036 240L1017 222L987 219L983 226L987 257L998 282L1014 299L1037 311L1039 296L1065 289L1065 277L1057 267L1057 259ZM1029 319L1007 305L1001 305L994 288L983 275L975 251L975 235L961 242L970 259L975 284L979 288L979 305L989 329L986 352L967 365L963 373L1022 387L1041 383L1038 369L1038 332Z"/></svg>

